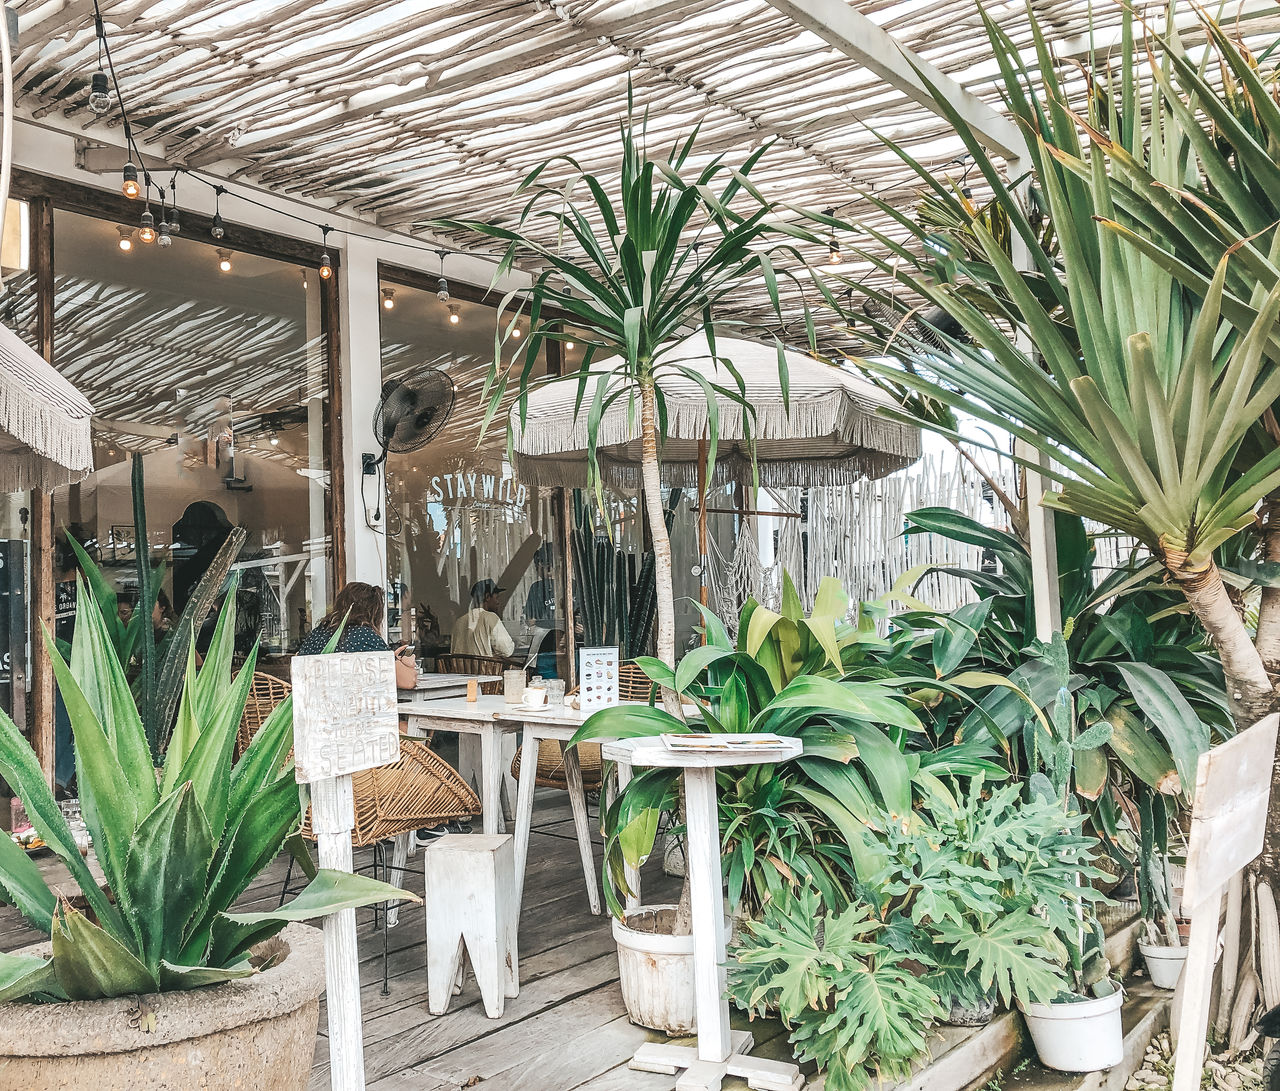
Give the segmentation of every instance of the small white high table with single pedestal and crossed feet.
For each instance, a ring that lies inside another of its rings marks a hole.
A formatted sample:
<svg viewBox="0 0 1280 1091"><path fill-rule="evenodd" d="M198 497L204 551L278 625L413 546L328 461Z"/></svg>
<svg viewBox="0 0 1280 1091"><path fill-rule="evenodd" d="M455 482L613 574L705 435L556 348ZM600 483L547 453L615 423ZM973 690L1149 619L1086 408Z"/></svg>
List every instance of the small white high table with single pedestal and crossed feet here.
<svg viewBox="0 0 1280 1091"><path fill-rule="evenodd" d="M678 768L685 779L686 867L694 928L694 987L696 992L698 1047L645 1042L630 1067L641 1072L673 1074L676 1091L719 1091L726 1076L746 1079L758 1091L800 1091L804 1077L795 1064L754 1058L748 1031L728 1028L728 992L724 981L724 881L721 873L719 809L716 771L791 761L800 756L797 739L750 753L669 750L662 739L626 739L604 743L602 754L620 767L620 781L631 768Z"/></svg>

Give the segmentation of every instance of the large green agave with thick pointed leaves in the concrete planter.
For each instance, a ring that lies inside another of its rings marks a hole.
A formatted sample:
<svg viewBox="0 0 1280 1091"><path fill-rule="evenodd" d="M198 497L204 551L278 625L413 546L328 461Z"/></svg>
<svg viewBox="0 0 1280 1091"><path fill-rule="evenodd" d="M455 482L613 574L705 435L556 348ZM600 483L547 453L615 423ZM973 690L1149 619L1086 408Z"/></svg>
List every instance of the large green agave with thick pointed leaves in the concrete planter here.
<svg viewBox="0 0 1280 1091"><path fill-rule="evenodd" d="M204 666L197 670L188 652L160 768L91 588L79 588L69 662L46 634L104 882L81 857L31 747L0 712L0 776L81 891L76 900L56 895L27 854L0 837L0 899L52 948L50 958L0 954L0 1001L93 1000L247 977L257 972L250 963L253 945L289 921L411 896L364 876L320 871L279 909L234 912L301 822L288 759L291 699L273 711L241 759L232 759L256 659L255 648L232 677L234 612L232 594Z"/></svg>

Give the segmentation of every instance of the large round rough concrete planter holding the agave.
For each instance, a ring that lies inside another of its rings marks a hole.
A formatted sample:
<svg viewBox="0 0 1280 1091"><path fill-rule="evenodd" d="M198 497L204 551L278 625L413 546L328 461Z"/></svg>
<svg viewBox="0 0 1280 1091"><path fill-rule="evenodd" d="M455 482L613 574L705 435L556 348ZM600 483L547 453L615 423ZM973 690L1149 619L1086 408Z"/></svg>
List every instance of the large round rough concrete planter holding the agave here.
<svg viewBox="0 0 1280 1091"><path fill-rule="evenodd" d="M47 954L41 946L28 950ZM138 1026L136 996L0 1004L0 1086L305 1091L324 991L324 940L315 928L289 925L257 954L280 962L241 981L145 998L152 1031Z"/></svg>

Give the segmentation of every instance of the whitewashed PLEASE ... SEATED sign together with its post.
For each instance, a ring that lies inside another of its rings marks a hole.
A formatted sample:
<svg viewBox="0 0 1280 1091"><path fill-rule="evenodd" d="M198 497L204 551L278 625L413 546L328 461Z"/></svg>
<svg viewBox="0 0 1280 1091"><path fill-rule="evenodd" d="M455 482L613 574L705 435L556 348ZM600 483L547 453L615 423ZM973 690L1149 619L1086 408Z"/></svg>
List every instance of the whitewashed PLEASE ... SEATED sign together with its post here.
<svg viewBox="0 0 1280 1091"><path fill-rule="evenodd" d="M351 775L399 761L394 658L390 652L294 656L291 671L294 776L311 785L320 867L349 872L356 822ZM325 918L324 953L333 1091L364 1091L355 909Z"/></svg>

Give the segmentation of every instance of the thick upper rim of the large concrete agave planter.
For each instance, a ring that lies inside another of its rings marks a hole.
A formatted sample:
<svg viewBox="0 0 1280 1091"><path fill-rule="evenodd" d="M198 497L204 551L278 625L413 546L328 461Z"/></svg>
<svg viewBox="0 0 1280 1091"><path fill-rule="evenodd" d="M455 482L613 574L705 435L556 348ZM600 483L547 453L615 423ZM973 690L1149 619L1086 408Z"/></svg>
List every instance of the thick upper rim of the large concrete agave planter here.
<svg viewBox="0 0 1280 1091"><path fill-rule="evenodd" d="M146 995L156 1013L155 1030L137 1027L138 998L67 1000L54 1004L0 1004L4 1056L74 1056L132 1053L205 1037L296 1012L324 991L324 937L306 925L288 925L255 951L280 960L251 977ZM23 954L47 955L49 944Z"/></svg>

